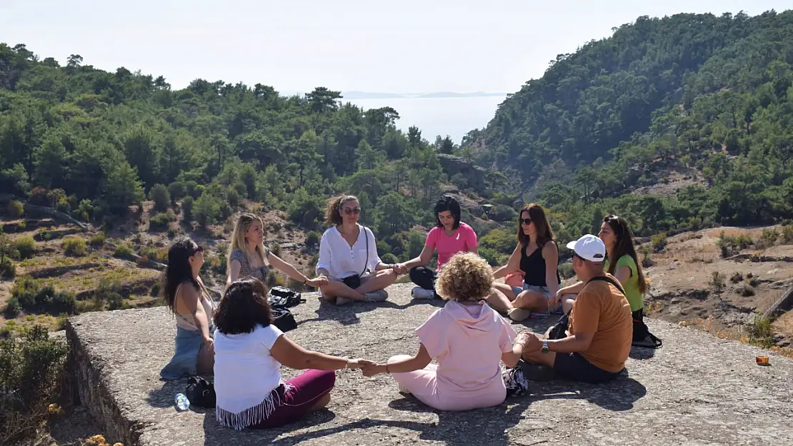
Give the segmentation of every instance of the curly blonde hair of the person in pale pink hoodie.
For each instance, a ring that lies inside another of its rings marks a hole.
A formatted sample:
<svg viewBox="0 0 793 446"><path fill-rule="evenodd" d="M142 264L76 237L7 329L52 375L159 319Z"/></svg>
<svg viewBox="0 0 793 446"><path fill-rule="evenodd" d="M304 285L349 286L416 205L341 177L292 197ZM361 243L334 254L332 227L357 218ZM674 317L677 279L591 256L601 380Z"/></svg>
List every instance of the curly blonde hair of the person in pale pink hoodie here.
<svg viewBox="0 0 793 446"><path fill-rule="evenodd" d="M456 253L441 268L435 289L443 299L481 300L490 294L490 265L475 253Z"/></svg>

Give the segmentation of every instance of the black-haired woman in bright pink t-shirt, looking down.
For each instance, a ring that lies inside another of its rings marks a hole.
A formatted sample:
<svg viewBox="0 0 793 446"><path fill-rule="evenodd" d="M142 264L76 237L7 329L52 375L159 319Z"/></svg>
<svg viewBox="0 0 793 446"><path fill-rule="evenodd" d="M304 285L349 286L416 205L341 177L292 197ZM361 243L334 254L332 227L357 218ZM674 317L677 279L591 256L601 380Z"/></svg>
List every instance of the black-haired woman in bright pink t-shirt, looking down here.
<svg viewBox="0 0 793 446"><path fill-rule="evenodd" d="M438 250L438 266L432 271L427 265L435 250ZM458 200L444 195L435 203L435 227L427 234L419 257L394 265L394 269L398 274L410 271L410 280L418 285L413 288L414 299L433 299L439 297L435 292L435 279L441 267L454 254L467 252L477 253L477 233L460 221Z"/></svg>

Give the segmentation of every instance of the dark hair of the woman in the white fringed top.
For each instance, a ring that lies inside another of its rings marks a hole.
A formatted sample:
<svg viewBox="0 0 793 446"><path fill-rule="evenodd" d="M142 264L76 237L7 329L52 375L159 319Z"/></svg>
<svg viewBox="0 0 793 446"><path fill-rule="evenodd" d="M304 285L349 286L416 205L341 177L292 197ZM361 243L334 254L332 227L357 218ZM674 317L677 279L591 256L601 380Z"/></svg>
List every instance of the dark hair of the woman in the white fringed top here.
<svg viewBox="0 0 793 446"><path fill-rule="evenodd" d="M213 319L223 334L251 333L256 326L273 323L267 287L259 279L235 280L228 285Z"/></svg>

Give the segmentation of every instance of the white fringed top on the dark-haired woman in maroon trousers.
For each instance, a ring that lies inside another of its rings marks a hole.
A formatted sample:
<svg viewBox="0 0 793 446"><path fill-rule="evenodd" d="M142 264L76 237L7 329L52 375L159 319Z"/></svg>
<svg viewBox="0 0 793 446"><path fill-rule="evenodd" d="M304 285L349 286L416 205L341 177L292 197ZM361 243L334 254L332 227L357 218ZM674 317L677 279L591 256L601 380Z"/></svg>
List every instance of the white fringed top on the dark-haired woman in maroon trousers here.
<svg viewBox="0 0 793 446"><path fill-rule="evenodd" d="M283 332L257 326L251 333L215 331L215 393L217 407L239 414L257 406L281 383L281 363L270 349Z"/></svg>

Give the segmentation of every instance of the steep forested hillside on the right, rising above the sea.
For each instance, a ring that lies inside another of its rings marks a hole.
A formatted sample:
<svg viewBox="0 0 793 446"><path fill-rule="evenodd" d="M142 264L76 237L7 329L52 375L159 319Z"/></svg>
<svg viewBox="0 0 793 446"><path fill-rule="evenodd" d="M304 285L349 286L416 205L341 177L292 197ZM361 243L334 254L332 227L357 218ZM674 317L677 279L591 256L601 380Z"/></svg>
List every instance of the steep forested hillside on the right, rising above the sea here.
<svg viewBox="0 0 793 446"><path fill-rule="evenodd" d="M793 216L793 10L638 17L559 55L460 152L563 215L641 234ZM638 195L680 174L673 196Z"/></svg>

